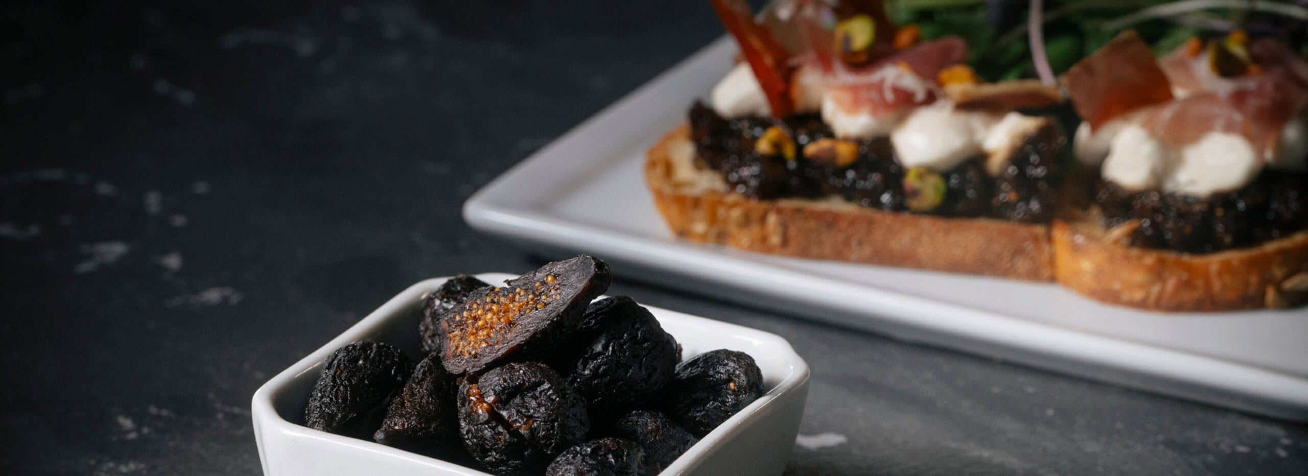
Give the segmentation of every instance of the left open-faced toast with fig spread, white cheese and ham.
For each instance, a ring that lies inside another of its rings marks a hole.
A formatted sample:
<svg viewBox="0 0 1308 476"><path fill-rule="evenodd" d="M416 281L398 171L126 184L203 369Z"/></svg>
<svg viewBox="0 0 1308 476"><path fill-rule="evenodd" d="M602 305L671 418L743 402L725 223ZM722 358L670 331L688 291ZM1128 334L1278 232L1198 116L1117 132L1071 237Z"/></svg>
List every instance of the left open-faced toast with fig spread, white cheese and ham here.
<svg viewBox="0 0 1308 476"><path fill-rule="evenodd" d="M789 256L1053 279L1065 139L1035 80L982 82L959 37L880 1L713 0L743 61L646 161L681 237Z"/></svg>

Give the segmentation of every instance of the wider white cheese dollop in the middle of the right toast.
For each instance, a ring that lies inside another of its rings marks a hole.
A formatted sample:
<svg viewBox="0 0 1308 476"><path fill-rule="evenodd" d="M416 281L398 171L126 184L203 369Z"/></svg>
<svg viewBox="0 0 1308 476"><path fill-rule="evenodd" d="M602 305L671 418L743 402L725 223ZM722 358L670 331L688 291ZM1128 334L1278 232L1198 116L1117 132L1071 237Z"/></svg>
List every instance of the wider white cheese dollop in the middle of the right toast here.
<svg viewBox="0 0 1308 476"><path fill-rule="evenodd" d="M1113 146L1116 145L1114 141ZM1262 167L1253 144L1244 136L1227 132L1205 133L1199 140L1185 145L1173 162L1163 182L1163 191L1192 196L1209 196L1244 187ZM1104 165L1107 171L1108 163Z"/></svg>

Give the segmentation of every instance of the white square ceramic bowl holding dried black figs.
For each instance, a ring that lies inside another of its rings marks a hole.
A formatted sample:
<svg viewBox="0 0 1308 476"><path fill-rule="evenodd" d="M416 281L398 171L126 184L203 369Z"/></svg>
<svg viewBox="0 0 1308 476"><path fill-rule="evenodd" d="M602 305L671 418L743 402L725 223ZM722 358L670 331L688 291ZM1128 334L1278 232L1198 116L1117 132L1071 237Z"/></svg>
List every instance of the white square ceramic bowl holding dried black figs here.
<svg viewBox="0 0 1308 476"><path fill-rule="evenodd" d="M506 273L477 275L477 279L492 284L513 277ZM419 306L422 296L446 280L438 277L409 286L255 391L251 415L264 475L487 475L475 468L303 425L309 392L327 356L336 349L371 340L396 345L409 357L421 356ZM763 398L700 439L661 475L780 475L785 471L808 398L808 364L777 335L646 307L663 330L681 344L683 358L713 349L746 352L759 362L766 388Z"/></svg>

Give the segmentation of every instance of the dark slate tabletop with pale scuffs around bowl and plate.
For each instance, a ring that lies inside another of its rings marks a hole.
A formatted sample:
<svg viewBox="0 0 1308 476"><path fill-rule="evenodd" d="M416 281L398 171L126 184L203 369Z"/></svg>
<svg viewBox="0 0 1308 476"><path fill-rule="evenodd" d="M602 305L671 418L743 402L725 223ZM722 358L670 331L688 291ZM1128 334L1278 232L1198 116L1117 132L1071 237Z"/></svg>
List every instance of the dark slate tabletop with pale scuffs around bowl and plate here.
<svg viewBox="0 0 1308 476"><path fill-rule="evenodd" d="M0 473L256 473L262 382L415 281L539 265L460 203L721 31L704 1L111 4L0 16ZM1303 425L615 271L808 360L789 473L1308 467Z"/></svg>

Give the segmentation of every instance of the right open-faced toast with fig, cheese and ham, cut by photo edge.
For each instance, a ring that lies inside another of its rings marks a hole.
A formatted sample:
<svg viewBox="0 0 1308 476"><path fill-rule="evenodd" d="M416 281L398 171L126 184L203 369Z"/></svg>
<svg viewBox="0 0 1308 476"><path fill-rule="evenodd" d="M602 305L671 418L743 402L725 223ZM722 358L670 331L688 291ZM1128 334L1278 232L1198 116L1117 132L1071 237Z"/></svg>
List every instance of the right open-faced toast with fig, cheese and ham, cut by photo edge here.
<svg viewBox="0 0 1308 476"><path fill-rule="evenodd" d="M1127 31L1061 80L1096 177L1054 224L1061 284L1158 310L1308 299L1308 60L1243 30L1155 58Z"/></svg>

